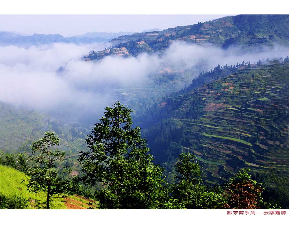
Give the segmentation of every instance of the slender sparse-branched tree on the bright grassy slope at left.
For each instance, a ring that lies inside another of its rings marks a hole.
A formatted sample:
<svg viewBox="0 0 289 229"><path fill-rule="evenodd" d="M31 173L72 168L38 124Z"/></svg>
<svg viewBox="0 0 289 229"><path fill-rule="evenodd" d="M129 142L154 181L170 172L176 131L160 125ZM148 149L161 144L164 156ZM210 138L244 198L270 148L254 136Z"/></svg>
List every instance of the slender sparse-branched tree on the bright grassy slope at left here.
<svg viewBox="0 0 289 229"><path fill-rule="evenodd" d="M65 158L65 152L60 152L60 138L55 136L55 133L45 132L45 135L40 140L31 145L32 156L29 156L29 161L34 162L33 167L27 169L28 178L27 190L29 192L38 193L44 191L47 193L46 205L50 209L51 198L63 198L68 191L67 180L59 178L60 173L69 172L69 167L58 167L58 162ZM56 149L55 149L56 148Z"/></svg>

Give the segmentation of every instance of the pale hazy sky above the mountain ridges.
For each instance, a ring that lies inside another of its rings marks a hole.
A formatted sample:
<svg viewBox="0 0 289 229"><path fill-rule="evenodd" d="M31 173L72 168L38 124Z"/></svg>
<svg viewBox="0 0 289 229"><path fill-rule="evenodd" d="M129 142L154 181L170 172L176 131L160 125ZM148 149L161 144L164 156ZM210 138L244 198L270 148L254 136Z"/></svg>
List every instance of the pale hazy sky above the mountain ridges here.
<svg viewBox="0 0 289 229"><path fill-rule="evenodd" d="M82 35L86 32L141 32L192 25L227 15L0 15L0 31Z"/></svg>

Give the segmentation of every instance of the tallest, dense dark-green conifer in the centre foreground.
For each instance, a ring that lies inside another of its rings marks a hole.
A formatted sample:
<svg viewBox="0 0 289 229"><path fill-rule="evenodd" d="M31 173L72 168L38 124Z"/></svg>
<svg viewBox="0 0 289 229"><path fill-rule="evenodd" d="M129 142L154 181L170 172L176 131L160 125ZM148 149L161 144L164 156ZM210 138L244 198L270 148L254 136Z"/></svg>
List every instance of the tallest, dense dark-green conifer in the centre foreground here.
<svg viewBox="0 0 289 229"><path fill-rule="evenodd" d="M140 128L131 128L131 112L120 102L105 108L86 139L89 152L80 152L80 180L101 184L94 196L102 209L165 208L164 169L153 163Z"/></svg>

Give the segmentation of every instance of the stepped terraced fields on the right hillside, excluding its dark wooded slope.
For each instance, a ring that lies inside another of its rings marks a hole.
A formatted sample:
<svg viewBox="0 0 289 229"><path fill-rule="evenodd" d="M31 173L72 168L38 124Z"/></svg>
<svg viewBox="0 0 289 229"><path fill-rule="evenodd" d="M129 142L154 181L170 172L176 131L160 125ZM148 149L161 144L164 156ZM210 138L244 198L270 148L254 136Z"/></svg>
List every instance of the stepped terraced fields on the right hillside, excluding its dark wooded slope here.
<svg viewBox="0 0 289 229"><path fill-rule="evenodd" d="M240 167L288 169L288 72L288 65L275 63L218 80L211 90L197 90L196 97L206 98L204 110L223 104L186 126L193 136L204 136L197 147L203 155L197 159L212 166L208 171L216 176L209 180L228 179Z"/></svg>

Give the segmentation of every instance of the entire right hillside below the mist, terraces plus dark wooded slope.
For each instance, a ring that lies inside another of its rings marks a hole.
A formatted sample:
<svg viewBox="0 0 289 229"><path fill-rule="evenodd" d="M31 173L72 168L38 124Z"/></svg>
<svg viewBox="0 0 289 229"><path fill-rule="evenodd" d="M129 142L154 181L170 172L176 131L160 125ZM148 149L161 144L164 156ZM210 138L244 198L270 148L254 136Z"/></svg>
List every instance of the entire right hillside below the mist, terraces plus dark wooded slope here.
<svg viewBox="0 0 289 229"><path fill-rule="evenodd" d="M246 66L163 101L151 116L167 117L143 132L158 162L190 148L208 183L249 167L253 173L275 169L288 184L288 85L289 63Z"/></svg>

